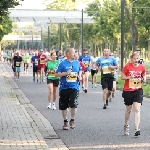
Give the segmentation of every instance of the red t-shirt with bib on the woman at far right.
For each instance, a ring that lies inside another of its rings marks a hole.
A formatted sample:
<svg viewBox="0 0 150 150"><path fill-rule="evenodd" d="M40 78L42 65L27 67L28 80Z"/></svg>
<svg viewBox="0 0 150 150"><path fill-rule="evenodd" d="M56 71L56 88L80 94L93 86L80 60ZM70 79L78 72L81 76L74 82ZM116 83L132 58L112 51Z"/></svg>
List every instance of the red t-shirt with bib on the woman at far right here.
<svg viewBox="0 0 150 150"><path fill-rule="evenodd" d="M135 67L131 63L128 63L123 68L122 73L126 76L134 76L133 79L125 80L124 91L136 91L142 88L141 79L142 76L145 75L145 67L142 64Z"/></svg>

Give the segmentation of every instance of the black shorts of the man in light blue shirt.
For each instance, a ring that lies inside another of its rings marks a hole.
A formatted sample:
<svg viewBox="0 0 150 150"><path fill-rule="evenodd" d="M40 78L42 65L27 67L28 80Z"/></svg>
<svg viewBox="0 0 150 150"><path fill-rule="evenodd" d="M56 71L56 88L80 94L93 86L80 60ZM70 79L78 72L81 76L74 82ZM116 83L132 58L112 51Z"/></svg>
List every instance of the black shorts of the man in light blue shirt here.
<svg viewBox="0 0 150 150"><path fill-rule="evenodd" d="M109 91L112 91L113 81L114 81L113 77L102 77L101 78L102 89L103 90L108 89Z"/></svg>

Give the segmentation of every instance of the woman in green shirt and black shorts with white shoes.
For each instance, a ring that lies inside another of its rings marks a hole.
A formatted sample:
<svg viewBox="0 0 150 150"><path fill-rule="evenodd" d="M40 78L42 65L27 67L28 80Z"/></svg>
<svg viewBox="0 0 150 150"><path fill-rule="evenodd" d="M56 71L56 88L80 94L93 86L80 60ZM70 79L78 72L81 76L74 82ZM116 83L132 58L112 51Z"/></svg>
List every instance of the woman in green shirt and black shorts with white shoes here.
<svg viewBox="0 0 150 150"><path fill-rule="evenodd" d="M56 90L59 85L59 78L55 76L55 70L58 66L59 61L56 60L56 52L51 52L50 60L47 62L46 65L46 72L47 72L47 85L49 89L48 93L48 102L49 105L47 108L49 109L56 109L55 101L56 101Z"/></svg>

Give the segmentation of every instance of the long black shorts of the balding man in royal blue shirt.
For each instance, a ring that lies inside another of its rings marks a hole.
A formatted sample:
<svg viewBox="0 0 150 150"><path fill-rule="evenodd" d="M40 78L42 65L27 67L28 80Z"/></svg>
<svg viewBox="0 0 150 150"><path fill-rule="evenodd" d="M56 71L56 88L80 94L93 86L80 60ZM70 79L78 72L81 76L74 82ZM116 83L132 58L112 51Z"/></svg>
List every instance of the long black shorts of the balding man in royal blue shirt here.
<svg viewBox="0 0 150 150"><path fill-rule="evenodd" d="M59 92L59 109L77 108L79 91L76 89L63 89Z"/></svg>

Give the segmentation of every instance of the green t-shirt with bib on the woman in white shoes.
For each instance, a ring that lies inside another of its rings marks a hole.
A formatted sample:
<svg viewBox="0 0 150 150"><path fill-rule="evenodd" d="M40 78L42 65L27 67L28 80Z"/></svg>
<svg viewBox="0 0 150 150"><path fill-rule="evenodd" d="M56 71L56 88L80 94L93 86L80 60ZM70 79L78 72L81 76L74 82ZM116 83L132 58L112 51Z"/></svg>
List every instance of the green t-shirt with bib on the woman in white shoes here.
<svg viewBox="0 0 150 150"><path fill-rule="evenodd" d="M51 80L58 79L58 77L55 76L55 70L58 64L59 64L58 60L55 60L55 61L50 60L47 62L47 72L48 72L47 78L48 79L51 79Z"/></svg>

